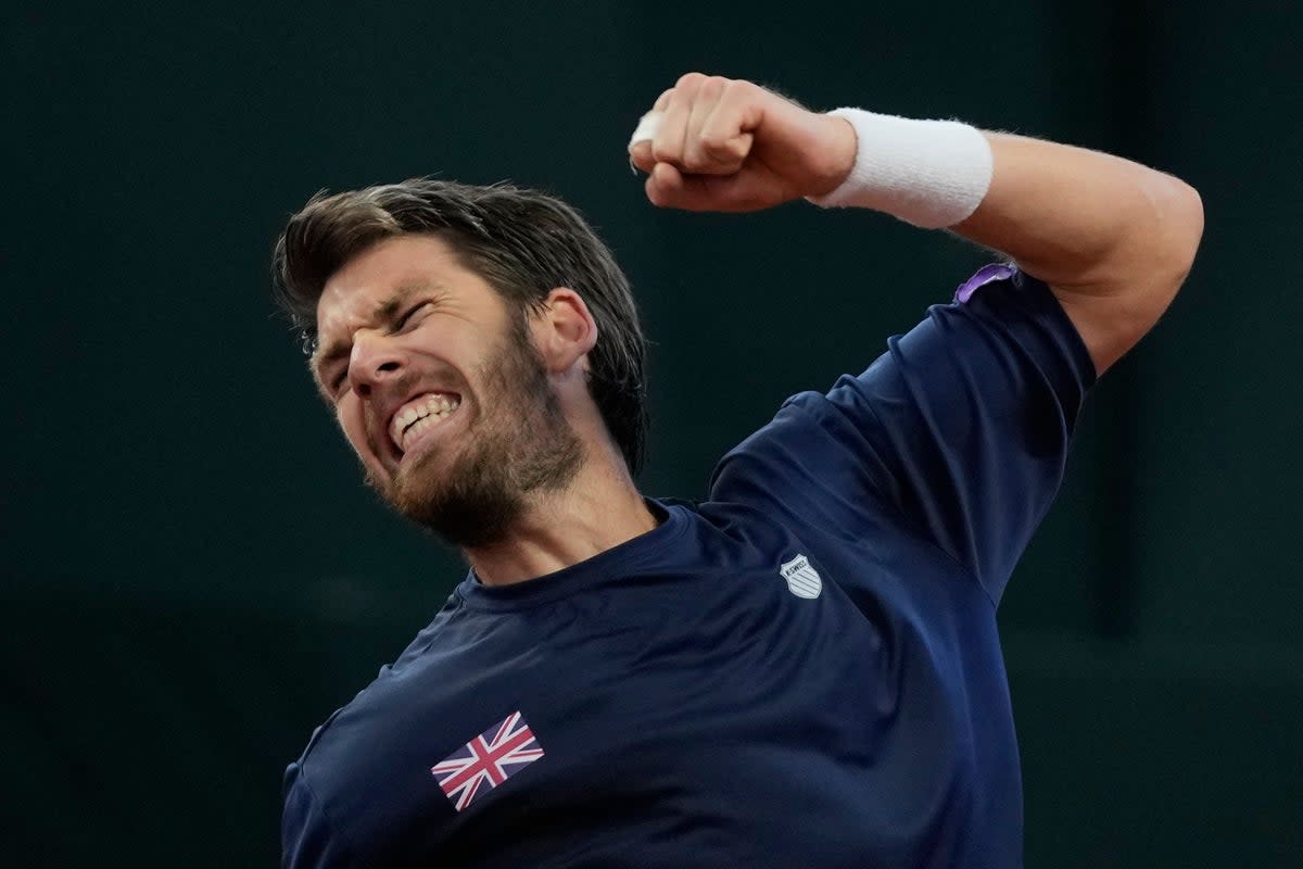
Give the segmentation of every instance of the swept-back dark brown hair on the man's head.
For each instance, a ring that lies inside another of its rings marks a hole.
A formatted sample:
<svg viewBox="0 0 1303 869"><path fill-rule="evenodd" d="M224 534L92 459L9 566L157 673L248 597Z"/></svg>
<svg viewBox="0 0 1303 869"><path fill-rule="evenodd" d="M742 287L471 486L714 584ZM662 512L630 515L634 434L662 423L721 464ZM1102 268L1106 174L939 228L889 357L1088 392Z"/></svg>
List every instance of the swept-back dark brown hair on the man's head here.
<svg viewBox="0 0 1303 869"><path fill-rule="evenodd" d="M272 255L272 293L304 341L317 341L326 281L371 245L435 235L520 311L555 287L577 292L597 321L588 390L629 470L646 440L646 341L629 281L611 251L568 205L507 184L473 186L410 178L364 190L322 190L289 219Z"/></svg>

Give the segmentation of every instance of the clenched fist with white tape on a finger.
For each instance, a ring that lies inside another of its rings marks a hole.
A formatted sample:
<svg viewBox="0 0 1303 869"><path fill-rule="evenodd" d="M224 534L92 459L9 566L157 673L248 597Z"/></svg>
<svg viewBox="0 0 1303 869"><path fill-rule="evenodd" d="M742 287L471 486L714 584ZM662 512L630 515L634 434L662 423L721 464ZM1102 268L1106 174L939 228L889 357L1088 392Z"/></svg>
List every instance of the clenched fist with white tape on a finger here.
<svg viewBox="0 0 1303 869"><path fill-rule="evenodd" d="M758 211L827 193L855 164L848 122L748 81L688 73L652 112L629 156L661 207Z"/></svg>

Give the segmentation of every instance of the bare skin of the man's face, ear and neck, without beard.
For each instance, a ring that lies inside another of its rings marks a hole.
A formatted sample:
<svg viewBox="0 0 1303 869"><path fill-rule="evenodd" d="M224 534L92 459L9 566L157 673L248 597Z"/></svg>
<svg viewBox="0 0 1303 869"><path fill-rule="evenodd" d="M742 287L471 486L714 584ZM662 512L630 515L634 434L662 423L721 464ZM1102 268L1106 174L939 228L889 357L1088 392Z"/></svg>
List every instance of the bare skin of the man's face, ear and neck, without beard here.
<svg viewBox="0 0 1303 869"><path fill-rule="evenodd" d="M552 289L525 324L541 371L537 384L515 393L512 383L494 383L511 340L507 306L438 237L403 236L356 257L326 283L317 323L318 386L369 481L403 512L401 492L438 491L485 440L502 446L491 459L520 468L517 453L537 446L537 387L552 391L579 464L560 487L515 492L520 504L507 533L461 546L482 582L551 573L655 526L588 395L597 326L572 289ZM461 405L403 452L388 434L394 410L431 391L455 393Z"/></svg>

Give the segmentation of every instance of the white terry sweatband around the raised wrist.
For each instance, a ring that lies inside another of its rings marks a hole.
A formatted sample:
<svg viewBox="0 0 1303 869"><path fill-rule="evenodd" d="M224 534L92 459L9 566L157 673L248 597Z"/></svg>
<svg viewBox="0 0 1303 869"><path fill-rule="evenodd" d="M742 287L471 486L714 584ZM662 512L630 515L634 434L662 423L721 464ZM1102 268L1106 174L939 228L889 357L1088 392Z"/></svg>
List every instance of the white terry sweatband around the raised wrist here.
<svg viewBox="0 0 1303 869"><path fill-rule="evenodd" d="M844 117L857 139L855 167L817 206L876 208L924 229L952 227L981 205L990 188L990 142L959 121L916 121L860 108Z"/></svg>

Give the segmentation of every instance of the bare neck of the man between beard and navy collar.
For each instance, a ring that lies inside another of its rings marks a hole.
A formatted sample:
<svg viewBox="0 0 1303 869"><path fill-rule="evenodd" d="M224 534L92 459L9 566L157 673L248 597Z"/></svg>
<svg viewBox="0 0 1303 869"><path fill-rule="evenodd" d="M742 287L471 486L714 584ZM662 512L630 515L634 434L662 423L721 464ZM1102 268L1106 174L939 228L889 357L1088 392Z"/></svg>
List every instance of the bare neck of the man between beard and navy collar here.
<svg viewBox="0 0 1303 869"><path fill-rule="evenodd" d="M624 463L590 456L564 490L532 498L506 541L464 552L481 582L509 585L579 564L655 526Z"/></svg>

